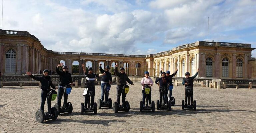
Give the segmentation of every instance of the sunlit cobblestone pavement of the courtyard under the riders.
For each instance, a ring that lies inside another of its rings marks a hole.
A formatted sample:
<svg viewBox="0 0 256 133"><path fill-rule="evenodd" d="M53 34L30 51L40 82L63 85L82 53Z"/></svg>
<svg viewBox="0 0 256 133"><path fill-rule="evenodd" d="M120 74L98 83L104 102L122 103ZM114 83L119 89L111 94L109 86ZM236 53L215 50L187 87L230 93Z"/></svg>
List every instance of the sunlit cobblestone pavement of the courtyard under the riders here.
<svg viewBox="0 0 256 133"><path fill-rule="evenodd" d="M153 86L152 100L159 99L158 86ZM126 100L129 112L98 109L97 115L80 115L84 88L73 88L68 101L71 114L61 114L57 120L37 123L35 112L40 108L41 90L38 87L3 87L0 89L0 132L256 132L256 89L213 89L194 87L197 110L182 110L184 86L174 86L176 105L172 111L139 111L141 85L130 85ZM96 86L95 101L101 96ZM110 98L116 100L116 85ZM62 100L63 101L63 100ZM57 102L52 101L52 106ZM47 104L46 104L47 105ZM45 109L47 106L45 105Z"/></svg>

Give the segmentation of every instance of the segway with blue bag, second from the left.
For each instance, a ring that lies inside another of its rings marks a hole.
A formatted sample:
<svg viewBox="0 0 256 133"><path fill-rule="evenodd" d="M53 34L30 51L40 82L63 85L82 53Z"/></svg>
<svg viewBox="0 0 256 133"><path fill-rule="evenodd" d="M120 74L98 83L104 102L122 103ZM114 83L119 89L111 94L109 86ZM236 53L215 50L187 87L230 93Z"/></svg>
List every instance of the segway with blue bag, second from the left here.
<svg viewBox="0 0 256 133"><path fill-rule="evenodd" d="M72 87L70 86L70 84L66 84L64 86L64 94L69 95L71 90L72 90ZM64 105L64 106L61 106L61 107L59 107L58 103L56 103L54 105L54 107L58 110L59 114L60 113L66 113L66 112L67 113L72 113L72 111L73 111L73 106L72 106L71 102L67 102L67 105Z"/></svg>

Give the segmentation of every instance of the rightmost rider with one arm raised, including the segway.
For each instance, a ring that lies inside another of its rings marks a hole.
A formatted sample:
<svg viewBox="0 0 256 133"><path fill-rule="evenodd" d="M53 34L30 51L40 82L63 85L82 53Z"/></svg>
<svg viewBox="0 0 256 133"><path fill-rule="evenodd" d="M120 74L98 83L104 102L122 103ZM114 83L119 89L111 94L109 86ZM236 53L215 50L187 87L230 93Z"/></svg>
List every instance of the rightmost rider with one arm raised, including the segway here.
<svg viewBox="0 0 256 133"><path fill-rule="evenodd" d="M186 78L184 78L182 82L182 84L185 85L185 104L184 104L184 100L182 100L182 109L189 108L189 109L196 110L196 100L193 101L193 79L196 78L198 71L199 69L197 69L197 72L193 77L189 77L190 76L189 72L185 73ZM187 99L188 97L190 99ZM187 104L187 100L189 101L188 104Z"/></svg>

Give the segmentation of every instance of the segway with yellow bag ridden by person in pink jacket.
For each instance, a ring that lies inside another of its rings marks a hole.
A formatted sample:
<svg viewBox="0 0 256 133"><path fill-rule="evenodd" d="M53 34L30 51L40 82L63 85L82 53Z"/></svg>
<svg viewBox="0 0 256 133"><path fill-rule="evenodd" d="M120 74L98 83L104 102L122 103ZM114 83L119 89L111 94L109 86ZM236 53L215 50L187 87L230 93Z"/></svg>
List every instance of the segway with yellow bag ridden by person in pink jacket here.
<svg viewBox="0 0 256 133"><path fill-rule="evenodd" d="M155 102L154 101L151 102L151 107L148 104L148 97L149 97L149 94L151 93L150 84L145 84L143 92L146 94L147 104L145 107L143 107L143 102L140 101L140 112L142 112L143 110L152 110L152 112L155 112Z"/></svg>

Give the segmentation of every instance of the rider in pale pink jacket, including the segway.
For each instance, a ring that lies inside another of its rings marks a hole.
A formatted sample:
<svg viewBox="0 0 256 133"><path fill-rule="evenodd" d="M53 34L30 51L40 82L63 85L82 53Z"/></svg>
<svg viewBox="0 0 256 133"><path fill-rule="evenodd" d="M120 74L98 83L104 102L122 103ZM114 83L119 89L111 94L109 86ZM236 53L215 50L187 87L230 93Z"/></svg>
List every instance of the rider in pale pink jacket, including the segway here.
<svg viewBox="0 0 256 133"><path fill-rule="evenodd" d="M140 111L152 110L155 111L155 102L151 102L151 86L153 86L153 80L149 77L149 72L144 72L145 77L141 79L140 84L142 85L142 101L140 101ZM145 106L145 100L147 102Z"/></svg>

